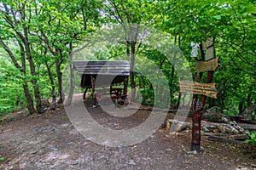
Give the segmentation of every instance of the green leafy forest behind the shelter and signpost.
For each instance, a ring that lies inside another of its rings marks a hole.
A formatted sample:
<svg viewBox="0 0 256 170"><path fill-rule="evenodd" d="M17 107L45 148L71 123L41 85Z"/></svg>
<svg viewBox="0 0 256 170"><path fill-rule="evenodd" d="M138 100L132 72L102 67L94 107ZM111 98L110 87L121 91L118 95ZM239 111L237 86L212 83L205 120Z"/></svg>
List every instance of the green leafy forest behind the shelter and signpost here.
<svg viewBox="0 0 256 170"><path fill-rule="evenodd" d="M132 41L107 44L101 49L90 47L93 44L88 37L93 32L137 23L170 34L189 60L192 72L198 61L190 57L191 42L214 37L221 65L212 82L217 83L219 95L218 99L207 99L206 108L218 106L224 114L256 119L253 0L9 0L0 3L0 11L1 116L24 106L28 114L42 113L43 99L51 99L55 106L70 102L72 97L63 88L73 80L66 80L63 72L66 67L73 68L73 54L78 48L87 50L87 58L93 60L115 59L122 54L153 60L166 75L172 105L176 105L180 102L177 72L159 51ZM135 78L132 84L144 99L152 98L154 92L145 77Z"/></svg>

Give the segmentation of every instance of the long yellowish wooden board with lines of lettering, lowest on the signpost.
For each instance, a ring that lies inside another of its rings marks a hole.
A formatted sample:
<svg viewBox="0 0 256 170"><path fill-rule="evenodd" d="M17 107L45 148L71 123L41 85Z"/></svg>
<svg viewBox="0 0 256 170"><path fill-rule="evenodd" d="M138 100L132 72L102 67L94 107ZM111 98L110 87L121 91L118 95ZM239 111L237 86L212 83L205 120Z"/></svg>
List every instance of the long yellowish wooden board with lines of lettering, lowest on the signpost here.
<svg viewBox="0 0 256 170"><path fill-rule="evenodd" d="M189 92L191 94L202 94L214 99L218 98L216 83L199 83L199 82L180 81L179 88L180 88L180 92Z"/></svg>

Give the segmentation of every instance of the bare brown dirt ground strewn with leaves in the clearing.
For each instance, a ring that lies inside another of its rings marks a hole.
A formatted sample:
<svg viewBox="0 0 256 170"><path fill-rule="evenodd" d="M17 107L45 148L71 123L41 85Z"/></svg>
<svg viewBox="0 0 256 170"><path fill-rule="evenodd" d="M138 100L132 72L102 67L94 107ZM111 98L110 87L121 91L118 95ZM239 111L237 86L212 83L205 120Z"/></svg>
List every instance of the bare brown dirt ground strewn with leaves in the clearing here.
<svg viewBox="0 0 256 170"><path fill-rule="evenodd" d="M108 126L140 123L150 111L137 111L116 122L101 107L88 104L91 116ZM187 121L191 121L189 118ZM26 116L15 111L1 122L0 169L256 169L256 147L209 141L202 135L201 153L190 152L191 131L171 135L160 127L139 144L108 147L79 133L64 109Z"/></svg>

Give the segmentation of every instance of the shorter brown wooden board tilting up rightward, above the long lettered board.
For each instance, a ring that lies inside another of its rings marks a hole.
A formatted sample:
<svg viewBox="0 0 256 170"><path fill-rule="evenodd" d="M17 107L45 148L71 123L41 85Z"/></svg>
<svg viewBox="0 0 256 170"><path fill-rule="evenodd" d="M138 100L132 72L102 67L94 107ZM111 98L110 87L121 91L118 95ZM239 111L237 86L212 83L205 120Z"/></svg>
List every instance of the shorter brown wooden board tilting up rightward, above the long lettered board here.
<svg viewBox="0 0 256 170"><path fill-rule="evenodd" d="M209 61L201 61L195 65L195 72L215 71L219 65L218 59L219 57Z"/></svg>

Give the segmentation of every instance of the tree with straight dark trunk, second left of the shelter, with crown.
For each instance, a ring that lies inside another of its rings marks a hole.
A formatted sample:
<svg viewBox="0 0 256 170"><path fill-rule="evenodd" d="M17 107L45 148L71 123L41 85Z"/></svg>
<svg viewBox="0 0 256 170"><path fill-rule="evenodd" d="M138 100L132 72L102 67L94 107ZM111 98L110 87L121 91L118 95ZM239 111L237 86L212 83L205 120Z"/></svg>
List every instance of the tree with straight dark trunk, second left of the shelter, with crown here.
<svg viewBox="0 0 256 170"><path fill-rule="evenodd" d="M38 17L35 22L36 29L32 35L37 35L42 41L41 44L48 48L55 58L60 97L58 103L63 103L61 65L67 62L72 53L73 44L82 40L87 32L94 30L99 12L96 10L96 3L90 0L40 1L39 4L35 12ZM69 61L70 65L73 65L72 60Z"/></svg>

